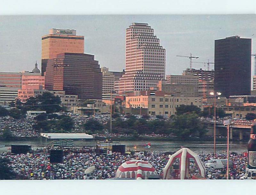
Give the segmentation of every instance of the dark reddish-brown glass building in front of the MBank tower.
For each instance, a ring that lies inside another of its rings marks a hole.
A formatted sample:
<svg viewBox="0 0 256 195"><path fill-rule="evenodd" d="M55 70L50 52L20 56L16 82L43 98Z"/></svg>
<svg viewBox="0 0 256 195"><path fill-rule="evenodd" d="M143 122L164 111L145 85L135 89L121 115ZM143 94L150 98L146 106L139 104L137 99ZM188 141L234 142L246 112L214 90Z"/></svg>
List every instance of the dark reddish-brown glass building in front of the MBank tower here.
<svg viewBox="0 0 256 195"><path fill-rule="evenodd" d="M64 90L80 99L102 99L102 73L94 55L60 53L49 59L45 72L45 89Z"/></svg>

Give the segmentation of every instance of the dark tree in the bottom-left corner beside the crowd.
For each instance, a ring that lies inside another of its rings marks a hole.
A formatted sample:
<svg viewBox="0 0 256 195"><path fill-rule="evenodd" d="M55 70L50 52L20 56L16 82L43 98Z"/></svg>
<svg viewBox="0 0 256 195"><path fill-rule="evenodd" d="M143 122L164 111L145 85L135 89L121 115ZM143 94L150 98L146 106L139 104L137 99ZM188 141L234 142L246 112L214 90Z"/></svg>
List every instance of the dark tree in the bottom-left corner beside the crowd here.
<svg viewBox="0 0 256 195"><path fill-rule="evenodd" d="M15 179L15 173L9 167L10 161L7 158L0 158L0 180Z"/></svg>

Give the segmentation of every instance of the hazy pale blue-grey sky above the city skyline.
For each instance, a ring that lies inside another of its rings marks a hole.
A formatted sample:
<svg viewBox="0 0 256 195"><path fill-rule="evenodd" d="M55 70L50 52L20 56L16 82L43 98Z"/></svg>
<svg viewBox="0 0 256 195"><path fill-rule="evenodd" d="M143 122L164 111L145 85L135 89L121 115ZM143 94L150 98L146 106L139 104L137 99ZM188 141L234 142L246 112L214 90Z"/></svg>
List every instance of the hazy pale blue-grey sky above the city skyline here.
<svg viewBox="0 0 256 195"><path fill-rule="evenodd" d="M255 15L0 16L0 71L31 71L36 60L41 69L41 37L51 28L76 29L76 35L84 35L85 53L95 55L101 67L122 71L125 29L132 22L145 22L166 49L166 74L181 74L189 67L189 58L176 55L192 53L199 56L197 61L213 62L215 39L252 38L255 53L255 21ZM207 68L204 64L193 67Z"/></svg>

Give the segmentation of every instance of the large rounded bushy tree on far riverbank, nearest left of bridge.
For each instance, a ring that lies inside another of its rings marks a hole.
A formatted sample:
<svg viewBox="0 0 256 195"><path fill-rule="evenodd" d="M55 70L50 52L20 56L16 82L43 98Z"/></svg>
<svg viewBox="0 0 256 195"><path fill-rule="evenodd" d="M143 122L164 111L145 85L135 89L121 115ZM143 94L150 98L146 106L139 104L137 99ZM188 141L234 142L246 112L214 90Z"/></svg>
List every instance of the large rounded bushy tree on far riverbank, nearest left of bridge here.
<svg viewBox="0 0 256 195"><path fill-rule="evenodd" d="M184 113L174 117L173 133L176 136L187 138L192 135L203 136L207 130L195 113Z"/></svg>

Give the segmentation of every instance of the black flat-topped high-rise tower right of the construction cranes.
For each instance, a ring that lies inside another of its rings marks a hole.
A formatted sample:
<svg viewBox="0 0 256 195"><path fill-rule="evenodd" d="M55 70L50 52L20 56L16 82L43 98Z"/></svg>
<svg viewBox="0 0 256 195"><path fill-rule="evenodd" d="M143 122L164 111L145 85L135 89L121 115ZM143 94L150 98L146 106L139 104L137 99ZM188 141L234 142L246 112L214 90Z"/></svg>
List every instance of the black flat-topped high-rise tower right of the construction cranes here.
<svg viewBox="0 0 256 195"><path fill-rule="evenodd" d="M214 90L221 96L250 95L252 39L231 36L215 40Z"/></svg>

